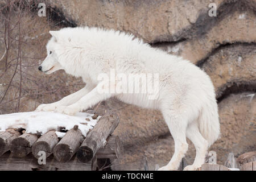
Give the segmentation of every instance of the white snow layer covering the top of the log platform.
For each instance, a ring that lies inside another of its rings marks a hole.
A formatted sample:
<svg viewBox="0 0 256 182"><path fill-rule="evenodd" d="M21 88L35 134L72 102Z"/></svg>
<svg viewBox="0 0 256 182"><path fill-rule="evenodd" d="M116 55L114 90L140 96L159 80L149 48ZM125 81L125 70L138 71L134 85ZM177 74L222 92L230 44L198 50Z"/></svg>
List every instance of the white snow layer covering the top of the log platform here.
<svg viewBox="0 0 256 182"><path fill-rule="evenodd" d="M23 128L26 129L26 133L43 135L49 130L60 131L60 129L63 128L65 128L65 130L71 130L75 125L78 125L82 135L86 137L88 131L92 129L100 119L100 116L97 117L97 119L92 119L93 115L94 114L89 113L67 115L43 111L1 114L0 131L5 131L9 128ZM56 134L58 135L59 133Z"/></svg>

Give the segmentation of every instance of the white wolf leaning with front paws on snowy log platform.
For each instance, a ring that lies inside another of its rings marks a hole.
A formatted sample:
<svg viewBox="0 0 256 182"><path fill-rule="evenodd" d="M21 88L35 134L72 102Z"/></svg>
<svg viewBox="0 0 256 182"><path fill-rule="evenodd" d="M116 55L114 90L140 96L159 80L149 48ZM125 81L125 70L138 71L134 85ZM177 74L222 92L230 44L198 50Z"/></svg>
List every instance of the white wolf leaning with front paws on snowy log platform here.
<svg viewBox="0 0 256 182"><path fill-rule="evenodd" d="M50 74L59 69L82 77L86 86L52 104L42 104L36 111L76 114L102 100L117 97L128 104L158 109L162 112L175 141L175 151L167 166L174 170L188 149L186 137L196 148L195 162L185 170L195 170L204 163L208 147L220 134L218 108L209 76L187 60L150 47L124 32L76 27L49 31L47 57L39 70ZM101 73L159 73L159 96L148 100L147 94L99 93L104 84Z"/></svg>

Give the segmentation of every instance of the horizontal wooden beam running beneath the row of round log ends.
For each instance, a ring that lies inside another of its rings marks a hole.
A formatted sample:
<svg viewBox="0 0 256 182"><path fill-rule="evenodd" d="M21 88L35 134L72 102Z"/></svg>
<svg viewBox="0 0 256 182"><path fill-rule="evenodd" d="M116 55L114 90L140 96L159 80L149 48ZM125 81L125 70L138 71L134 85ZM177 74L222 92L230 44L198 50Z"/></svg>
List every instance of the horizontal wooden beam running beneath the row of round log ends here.
<svg viewBox="0 0 256 182"><path fill-rule="evenodd" d="M69 162L60 163L53 155L46 159L46 164L40 165L32 153L23 158L15 158L6 152L0 158L0 171L90 171L90 163L81 163L75 156Z"/></svg>

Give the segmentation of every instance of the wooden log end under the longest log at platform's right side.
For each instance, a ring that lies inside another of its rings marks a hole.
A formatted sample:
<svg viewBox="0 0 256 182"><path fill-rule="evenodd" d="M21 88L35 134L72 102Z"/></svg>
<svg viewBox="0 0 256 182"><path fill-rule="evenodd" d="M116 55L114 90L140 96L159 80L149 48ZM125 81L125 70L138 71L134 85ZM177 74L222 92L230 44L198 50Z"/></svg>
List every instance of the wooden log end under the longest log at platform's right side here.
<svg viewBox="0 0 256 182"><path fill-rule="evenodd" d="M119 140L118 136L109 136L106 139L105 146L102 146L97 152L97 158L109 158L117 159L123 154L123 146Z"/></svg>

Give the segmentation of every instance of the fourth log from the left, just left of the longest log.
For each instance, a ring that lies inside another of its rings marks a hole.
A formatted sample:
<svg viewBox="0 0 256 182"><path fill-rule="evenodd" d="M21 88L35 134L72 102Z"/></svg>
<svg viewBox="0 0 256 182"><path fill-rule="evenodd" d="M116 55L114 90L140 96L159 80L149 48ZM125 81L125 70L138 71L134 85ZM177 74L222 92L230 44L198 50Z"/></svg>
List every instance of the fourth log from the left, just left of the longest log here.
<svg viewBox="0 0 256 182"><path fill-rule="evenodd" d="M78 125L75 125L54 147L55 158L59 162L68 162L76 154L83 139L82 132L78 129Z"/></svg>

